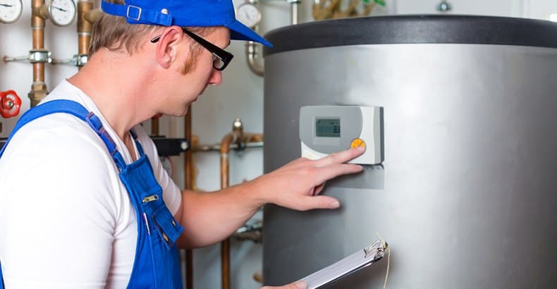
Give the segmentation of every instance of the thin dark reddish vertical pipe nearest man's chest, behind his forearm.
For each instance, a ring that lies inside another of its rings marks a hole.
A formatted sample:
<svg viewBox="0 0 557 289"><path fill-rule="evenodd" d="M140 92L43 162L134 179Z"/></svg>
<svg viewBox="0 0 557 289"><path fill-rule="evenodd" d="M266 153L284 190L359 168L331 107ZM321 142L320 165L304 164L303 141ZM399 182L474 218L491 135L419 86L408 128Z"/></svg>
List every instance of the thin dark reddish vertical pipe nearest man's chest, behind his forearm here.
<svg viewBox="0 0 557 289"><path fill-rule="evenodd" d="M184 137L192 140L192 106L188 108L188 113L184 116ZM193 166L192 166L192 150L184 154L184 185L186 190L193 189ZM190 249L185 250L185 288L193 289L193 252Z"/></svg>

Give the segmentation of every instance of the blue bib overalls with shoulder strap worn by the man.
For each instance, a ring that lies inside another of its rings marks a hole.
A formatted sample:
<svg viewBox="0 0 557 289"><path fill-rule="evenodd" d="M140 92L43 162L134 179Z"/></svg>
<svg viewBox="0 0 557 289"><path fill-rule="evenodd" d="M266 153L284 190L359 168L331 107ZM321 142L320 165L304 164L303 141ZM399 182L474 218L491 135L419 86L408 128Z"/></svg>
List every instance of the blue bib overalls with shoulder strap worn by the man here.
<svg viewBox="0 0 557 289"><path fill-rule="evenodd" d="M87 122L101 137L120 171L120 179L130 195L137 217L137 247L128 288L182 288L176 240L183 228L173 218L162 199L162 189L154 177L149 159L135 140L140 158L126 165L116 144L102 127L100 119L70 100L53 100L30 109L21 116L0 150L0 157L11 137L26 123L51 113L70 113ZM137 136L132 132L134 139ZM0 289L4 289L0 267Z"/></svg>

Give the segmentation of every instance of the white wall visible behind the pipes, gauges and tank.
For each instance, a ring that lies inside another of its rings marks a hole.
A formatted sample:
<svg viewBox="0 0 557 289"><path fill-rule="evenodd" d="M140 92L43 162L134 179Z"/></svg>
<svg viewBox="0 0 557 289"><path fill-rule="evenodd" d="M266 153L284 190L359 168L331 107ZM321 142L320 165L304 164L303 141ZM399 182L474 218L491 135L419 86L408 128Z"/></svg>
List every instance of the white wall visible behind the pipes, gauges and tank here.
<svg viewBox="0 0 557 289"><path fill-rule="evenodd" d="M235 0L235 6L243 3ZM305 0L300 13L300 23L310 21L311 4ZM400 13L439 13L435 10L440 0L387 0L386 8L377 8L373 15ZM453 0L453 14L482 14L496 16L516 16L548 18L557 13L555 0ZM13 24L0 23L0 56L27 55L31 49L30 0L23 0L23 16ZM98 3L95 7L98 7ZM262 34L276 27L290 23L290 6L285 1L262 1L260 4L264 18L259 26ZM75 23L68 27L55 27L47 21L45 47L52 56L59 59L71 58L77 52ZM250 73L245 65L243 42L233 41L228 48L235 55L234 61L224 72L223 84L209 87L192 106L193 133L200 142L213 144L231 131L234 118L242 118L245 131L262 133L263 130L263 80ZM46 82L49 90L77 71L72 66L47 65ZM29 107L27 93L32 81L32 66L29 63L4 63L0 61L0 90L16 90L23 100L22 111ZM115 96L117 97L117 96ZM6 137L13 128L16 118L0 119L4 123L1 137ZM147 124L147 126L149 126ZM181 118L161 119L161 134L169 137L183 135ZM217 190L219 181L219 156L216 152L195 154L195 166L199 171L197 187L200 190ZM183 186L183 168L180 157L173 158L176 182ZM249 149L242 156L231 154L231 185L243 180L251 180L262 173L262 149ZM256 218L261 218L258 214ZM250 242L233 242L232 247L232 284L233 288L259 288L252 281L252 274L261 270L261 245ZM194 251L195 288L220 287L220 252L218 246Z"/></svg>

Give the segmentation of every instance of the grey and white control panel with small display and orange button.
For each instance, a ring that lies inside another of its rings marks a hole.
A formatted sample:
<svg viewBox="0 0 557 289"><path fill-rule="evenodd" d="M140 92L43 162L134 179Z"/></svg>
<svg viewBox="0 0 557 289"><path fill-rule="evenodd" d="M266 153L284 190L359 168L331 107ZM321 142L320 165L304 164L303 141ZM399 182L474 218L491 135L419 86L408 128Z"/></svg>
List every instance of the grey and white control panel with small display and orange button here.
<svg viewBox="0 0 557 289"><path fill-rule="evenodd" d="M350 147L365 152L350 164L384 161L383 108L380 106L302 106L302 157L321 159Z"/></svg>

